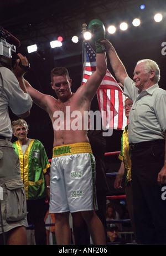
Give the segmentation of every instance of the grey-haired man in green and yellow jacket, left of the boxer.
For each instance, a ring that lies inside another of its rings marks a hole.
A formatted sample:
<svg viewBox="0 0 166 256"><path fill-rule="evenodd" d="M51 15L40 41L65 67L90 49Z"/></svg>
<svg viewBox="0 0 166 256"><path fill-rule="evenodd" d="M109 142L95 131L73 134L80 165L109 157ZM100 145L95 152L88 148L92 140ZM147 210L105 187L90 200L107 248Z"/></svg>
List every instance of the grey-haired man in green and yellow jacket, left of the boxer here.
<svg viewBox="0 0 166 256"><path fill-rule="evenodd" d="M50 163L39 140L28 139L28 125L22 119L12 122L17 141L13 146L20 160L20 174L27 198L28 224L34 224L36 244L46 244L45 197L49 197Z"/></svg>

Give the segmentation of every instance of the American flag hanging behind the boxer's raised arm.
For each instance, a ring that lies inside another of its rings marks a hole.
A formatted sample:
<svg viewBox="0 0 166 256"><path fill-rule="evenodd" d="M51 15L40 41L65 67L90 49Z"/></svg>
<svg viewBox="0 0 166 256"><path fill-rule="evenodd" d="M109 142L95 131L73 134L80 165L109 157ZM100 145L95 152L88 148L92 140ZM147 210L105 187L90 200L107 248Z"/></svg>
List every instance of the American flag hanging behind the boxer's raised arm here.
<svg viewBox="0 0 166 256"><path fill-rule="evenodd" d="M96 70L96 52L89 42L84 41L82 83L87 82ZM107 70L106 76L97 90L98 106L101 112L102 125L106 129L124 130L127 125L123 101L126 99L122 88ZM110 115L111 113L111 115Z"/></svg>

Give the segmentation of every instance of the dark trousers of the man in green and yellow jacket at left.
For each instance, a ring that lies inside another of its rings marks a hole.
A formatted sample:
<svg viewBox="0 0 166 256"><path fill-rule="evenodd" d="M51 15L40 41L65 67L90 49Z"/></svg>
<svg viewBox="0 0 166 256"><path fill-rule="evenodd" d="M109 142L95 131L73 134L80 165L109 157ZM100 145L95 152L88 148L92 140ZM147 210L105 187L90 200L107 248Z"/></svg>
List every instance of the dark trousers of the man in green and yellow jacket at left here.
<svg viewBox="0 0 166 256"><path fill-rule="evenodd" d="M37 245L46 245L46 230L44 222L45 198L27 200L28 225L34 225L35 242Z"/></svg>

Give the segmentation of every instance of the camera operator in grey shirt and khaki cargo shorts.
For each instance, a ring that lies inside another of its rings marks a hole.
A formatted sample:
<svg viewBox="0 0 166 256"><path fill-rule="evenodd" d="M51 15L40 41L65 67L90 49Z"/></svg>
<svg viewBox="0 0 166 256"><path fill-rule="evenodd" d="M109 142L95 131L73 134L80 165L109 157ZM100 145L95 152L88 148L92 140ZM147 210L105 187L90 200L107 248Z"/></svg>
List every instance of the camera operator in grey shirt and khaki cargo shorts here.
<svg viewBox="0 0 166 256"><path fill-rule="evenodd" d="M32 107L23 75L28 60L18 54L13 72L0 60L0 244L27 244L27 209L19 158L12 146L12 127L8 107L19 117L27 117Z"/></svg>

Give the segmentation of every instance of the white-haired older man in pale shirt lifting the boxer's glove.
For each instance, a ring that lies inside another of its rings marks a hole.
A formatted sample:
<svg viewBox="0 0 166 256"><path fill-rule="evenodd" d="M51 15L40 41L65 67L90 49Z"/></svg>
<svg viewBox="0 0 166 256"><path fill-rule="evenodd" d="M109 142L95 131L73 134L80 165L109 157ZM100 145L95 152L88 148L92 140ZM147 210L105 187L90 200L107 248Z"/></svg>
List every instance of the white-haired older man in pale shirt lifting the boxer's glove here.
<svg viewBox="0 0 166 256"><path fill-rule="evenodd" d="M138 243L166 243L166 92L159 88L160 71L152 60L137 62L133 80L115 48L105 45L111 66L124 93L133 101L128 141L132 155L133 210Z"/></svg>

